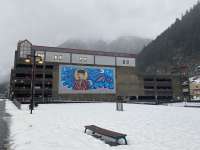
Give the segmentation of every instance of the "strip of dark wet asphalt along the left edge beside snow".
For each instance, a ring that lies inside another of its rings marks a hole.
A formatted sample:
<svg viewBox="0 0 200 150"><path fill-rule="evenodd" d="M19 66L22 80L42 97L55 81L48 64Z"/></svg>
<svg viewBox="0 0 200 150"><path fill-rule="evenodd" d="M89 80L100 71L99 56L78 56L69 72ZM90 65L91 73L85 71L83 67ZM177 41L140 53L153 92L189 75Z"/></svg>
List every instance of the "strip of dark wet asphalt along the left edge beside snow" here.
<svg viewBox="0 0 200 150"><path fill-rule="evenodd" d="M0 100L0 150L7 150L7 138L9 135L9 114L5 112L5 101Z"/></svg>

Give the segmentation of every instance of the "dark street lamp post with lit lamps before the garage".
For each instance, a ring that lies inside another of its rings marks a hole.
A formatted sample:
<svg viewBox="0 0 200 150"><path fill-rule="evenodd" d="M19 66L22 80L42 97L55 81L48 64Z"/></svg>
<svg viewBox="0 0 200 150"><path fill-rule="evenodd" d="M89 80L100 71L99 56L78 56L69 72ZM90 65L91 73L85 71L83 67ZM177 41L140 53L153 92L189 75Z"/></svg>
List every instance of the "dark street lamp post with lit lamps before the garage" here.
<svg viewBox="0 0 200 150"><path fill-rule="evenodd" d="M43 59L41 56L35 55L35 50L32 51L31 55L28 55L27 58L25 59L25 63L31 63L32 64L32 71L31 71L31 100L30 100L30 105L29 109L32 111L34 109L34 96L35 96L35 65L36 63L38 64L43 64Z"/></svg>

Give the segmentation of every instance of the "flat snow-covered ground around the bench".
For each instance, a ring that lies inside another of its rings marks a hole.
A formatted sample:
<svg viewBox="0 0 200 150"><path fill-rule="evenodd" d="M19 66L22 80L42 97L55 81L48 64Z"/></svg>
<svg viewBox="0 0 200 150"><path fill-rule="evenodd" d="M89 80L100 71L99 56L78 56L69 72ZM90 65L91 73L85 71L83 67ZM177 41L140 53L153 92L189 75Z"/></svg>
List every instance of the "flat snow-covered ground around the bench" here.
<svg viewBox="0 0 200 150"><path fill-rule="evenodd" d="M7 101L11 149L15 150L198 150L200 109L113 103L39 105L29 113ZM127 134L128 145L110 147L84 134L95 124Z"/></svg>

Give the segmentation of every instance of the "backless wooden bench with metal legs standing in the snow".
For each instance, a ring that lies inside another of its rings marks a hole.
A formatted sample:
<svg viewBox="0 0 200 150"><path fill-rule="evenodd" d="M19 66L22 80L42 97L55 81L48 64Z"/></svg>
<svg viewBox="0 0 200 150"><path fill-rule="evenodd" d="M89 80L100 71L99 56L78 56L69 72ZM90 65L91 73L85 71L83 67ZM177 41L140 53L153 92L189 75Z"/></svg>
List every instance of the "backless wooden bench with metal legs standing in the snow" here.
<svg viewBox="0 0 200 150"><path fill-rule="evenodd" d="M85 126L85 133L87 132L87 130L92 131L93 135L95 133L97 133L97 134L100 134L100 135L104 135L104 136L113 138L113 139L115 139L116 144L118 144L118 141L120 139L124 139L124 142L127 145L127 140L126 140L127 135L126 134L122 134L122 133L110 131L110 130L107 130L107 129L103 129L103 128L100 128L100 127L95 126L95 125Z"/></svg>

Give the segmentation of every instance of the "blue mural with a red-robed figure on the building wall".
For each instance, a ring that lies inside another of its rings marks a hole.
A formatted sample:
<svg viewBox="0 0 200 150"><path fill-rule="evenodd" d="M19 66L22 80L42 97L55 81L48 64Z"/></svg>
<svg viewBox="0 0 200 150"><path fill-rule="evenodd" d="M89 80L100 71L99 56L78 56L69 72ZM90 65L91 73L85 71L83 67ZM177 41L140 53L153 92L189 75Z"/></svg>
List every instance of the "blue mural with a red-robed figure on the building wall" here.
<svg viewBox="0 0 200 150"><path fill-rule="evenodd" d="M59 93L115 93L115 68L60 65Z"/></svg>

